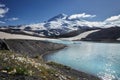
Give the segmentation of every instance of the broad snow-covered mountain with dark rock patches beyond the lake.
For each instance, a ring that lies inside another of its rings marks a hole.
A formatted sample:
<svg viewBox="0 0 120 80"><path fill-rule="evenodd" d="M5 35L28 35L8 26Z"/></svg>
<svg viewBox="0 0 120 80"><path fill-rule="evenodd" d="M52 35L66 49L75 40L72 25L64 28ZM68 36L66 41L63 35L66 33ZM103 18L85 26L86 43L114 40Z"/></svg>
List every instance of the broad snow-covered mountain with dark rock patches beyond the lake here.
<svg viewBox="0 0 120 80"><path fill-rule="evenodd" d="M25 25L21 29L45 36L59 36L80 29L95 28L94 26L86 25L85 22L82 19L72 19L72 16L59 14L44 23Z"/></svg>

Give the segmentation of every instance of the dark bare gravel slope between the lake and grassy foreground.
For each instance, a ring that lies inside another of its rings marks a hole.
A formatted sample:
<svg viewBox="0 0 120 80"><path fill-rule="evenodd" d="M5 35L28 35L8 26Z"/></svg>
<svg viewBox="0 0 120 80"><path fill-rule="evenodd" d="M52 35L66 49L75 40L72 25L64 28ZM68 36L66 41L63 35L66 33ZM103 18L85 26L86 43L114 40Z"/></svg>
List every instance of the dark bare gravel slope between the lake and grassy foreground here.
<svg viewBox="0 0 120 80"><path fill-rule="evenodd" d="M55 44L39 40L4 40L9 50L15 53L36 57L65 47L63 44Z"/></svg>

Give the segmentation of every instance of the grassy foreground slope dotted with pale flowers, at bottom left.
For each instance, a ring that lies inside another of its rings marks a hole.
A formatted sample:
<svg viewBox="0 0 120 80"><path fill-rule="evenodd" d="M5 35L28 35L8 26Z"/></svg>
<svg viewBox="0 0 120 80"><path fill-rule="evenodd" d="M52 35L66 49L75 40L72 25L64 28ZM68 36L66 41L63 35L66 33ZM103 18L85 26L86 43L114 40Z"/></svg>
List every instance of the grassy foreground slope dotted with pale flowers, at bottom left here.
<svg viewBox="0 0 120 80"><path fill-rule="evenodd" d="M7 50L0 50L0 73L36 77L37 80L77 80L75 77L49 67L40 58L29 58ZM0 80L7 80L7 77L0 77ZM14 78L9 78L9 80L14 80Z"/></svg>

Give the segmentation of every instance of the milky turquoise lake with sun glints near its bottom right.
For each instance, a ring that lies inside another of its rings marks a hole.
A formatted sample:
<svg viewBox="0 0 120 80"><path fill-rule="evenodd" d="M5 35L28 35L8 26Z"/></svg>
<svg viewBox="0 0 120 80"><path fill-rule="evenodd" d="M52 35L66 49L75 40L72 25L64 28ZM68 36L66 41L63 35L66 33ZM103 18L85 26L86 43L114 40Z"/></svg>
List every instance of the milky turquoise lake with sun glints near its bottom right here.
<svg viewBox="0 0 120 80"><path fill-rule="evenodd" d="M120 80L120 44L80 41L56 41L56 43L63 43L68 47L46 55L47 61L70 66L103 80Z"/></svg>

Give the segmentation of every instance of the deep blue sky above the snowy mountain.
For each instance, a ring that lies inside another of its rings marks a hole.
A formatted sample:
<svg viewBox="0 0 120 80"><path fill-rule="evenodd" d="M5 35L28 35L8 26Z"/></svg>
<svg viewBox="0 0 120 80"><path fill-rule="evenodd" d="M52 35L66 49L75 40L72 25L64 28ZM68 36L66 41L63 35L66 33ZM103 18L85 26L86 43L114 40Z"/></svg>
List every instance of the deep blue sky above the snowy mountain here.
<svg viewBox="0 0 120 80"><path fill-rule="evenodd" d="M0 6L6 10L0 12L0 25L39 23L60 13L96 15L93 21L120 14L120 0L0 0Z"/></svg>

